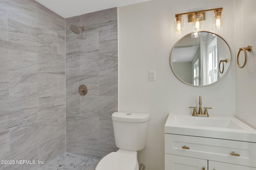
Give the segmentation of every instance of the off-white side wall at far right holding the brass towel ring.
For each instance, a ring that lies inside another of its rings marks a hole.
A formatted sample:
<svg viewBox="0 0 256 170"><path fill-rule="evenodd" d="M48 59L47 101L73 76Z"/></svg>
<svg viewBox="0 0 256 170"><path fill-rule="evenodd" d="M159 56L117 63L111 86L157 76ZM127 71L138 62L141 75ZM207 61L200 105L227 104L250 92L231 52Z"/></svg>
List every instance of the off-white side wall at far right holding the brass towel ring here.
<svg viewBox="0 0 256 170"><path fill-rule="evenodd" d="M244 68L236 65L236 117L256 128L256 1L236 0L236 55L239 48L252 45ZM240 64L244 53L240 53Z"/></svg>

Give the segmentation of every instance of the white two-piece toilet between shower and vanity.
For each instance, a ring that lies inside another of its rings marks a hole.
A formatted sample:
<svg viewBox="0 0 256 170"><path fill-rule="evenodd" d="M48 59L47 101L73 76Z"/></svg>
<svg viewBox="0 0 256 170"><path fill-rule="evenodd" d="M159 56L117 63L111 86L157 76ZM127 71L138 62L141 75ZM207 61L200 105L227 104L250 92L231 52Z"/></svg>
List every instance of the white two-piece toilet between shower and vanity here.
<svg viewBox="0 0 256 170"><path fill-rule="evenodd" d="M146 146L149 114L114 112L116 152L107 154L96 170L139 170L137 151Z"/></svg>

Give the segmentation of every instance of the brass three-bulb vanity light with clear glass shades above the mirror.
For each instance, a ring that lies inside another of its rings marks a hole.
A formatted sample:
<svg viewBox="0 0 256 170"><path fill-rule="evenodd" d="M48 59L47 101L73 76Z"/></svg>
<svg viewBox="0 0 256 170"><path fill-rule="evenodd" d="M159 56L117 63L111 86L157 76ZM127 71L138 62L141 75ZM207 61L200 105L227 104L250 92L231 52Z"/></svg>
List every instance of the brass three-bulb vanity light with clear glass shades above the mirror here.
<svg viewBox="0 0 256 170"><path fill-rule="evenodd" d="M210 10L202 10L202 11L195 11L195 12L187 12L182 14L175 14L175 33L183 32L183 17L182 15L188 15L188 22L193 22L193 31L202 31L203 25L202 21L206 20L205 12L207 11L214 11L214 29L222 29L222 12L223 8L214 8Z"/></svg>

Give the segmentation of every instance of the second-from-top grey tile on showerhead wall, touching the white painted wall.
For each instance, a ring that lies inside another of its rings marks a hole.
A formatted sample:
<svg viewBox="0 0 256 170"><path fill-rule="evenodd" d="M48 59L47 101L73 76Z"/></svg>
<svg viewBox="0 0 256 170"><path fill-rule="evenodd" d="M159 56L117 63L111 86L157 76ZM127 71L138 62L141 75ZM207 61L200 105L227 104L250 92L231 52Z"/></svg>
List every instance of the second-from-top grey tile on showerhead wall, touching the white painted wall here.
<svg viewBox="0 0 256 170"><path fill-rule="evenodd" d="M99 32L99 52L118 50L117 29L108 29Z"/></svg>

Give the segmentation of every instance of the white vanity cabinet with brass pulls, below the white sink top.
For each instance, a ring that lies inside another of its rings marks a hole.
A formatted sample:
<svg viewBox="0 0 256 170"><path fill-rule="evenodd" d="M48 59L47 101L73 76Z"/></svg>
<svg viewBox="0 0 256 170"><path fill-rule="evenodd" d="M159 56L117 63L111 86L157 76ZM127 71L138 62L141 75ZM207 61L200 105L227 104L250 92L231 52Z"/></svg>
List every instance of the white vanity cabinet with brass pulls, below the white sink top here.
<svg viewBox="0 0 256 170"><path fill-rule="evenodd" d="M256 143L165 133L165 170L256 170Z"/></svg>

